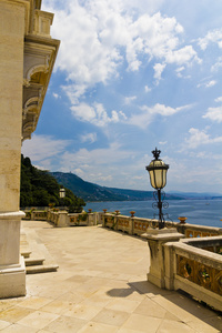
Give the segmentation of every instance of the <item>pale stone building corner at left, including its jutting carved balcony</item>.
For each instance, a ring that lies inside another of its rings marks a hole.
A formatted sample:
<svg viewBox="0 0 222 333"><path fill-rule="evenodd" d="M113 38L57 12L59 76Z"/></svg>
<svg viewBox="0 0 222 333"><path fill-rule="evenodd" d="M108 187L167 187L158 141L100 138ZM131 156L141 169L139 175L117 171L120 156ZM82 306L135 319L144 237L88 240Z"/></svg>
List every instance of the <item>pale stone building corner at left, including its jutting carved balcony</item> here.
<svg viewBox="0 0 222 333"><path fill-rule="evenodd" d="M0 1L0 297L26 294L20 256L21 140L37 127L59 49L39 0Z"/></svg>

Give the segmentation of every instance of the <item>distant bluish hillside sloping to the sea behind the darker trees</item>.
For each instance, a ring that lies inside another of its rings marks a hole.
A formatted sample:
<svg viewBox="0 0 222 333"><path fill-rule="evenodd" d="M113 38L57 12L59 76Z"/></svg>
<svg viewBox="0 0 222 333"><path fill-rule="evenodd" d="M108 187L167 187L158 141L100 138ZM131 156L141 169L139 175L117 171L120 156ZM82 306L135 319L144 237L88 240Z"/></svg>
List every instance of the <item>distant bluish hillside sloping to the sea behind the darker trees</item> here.
<svg viewBox="0 0 222 333"><path fill-rule="evenodd" d="M73 173L51 172L60 184L70 189L75 195L84 201L145 201L152 200L153 191L137 191L115 188L100 186L83 181ZM167 194L168 200L180 200L181 196Z"/></svg>

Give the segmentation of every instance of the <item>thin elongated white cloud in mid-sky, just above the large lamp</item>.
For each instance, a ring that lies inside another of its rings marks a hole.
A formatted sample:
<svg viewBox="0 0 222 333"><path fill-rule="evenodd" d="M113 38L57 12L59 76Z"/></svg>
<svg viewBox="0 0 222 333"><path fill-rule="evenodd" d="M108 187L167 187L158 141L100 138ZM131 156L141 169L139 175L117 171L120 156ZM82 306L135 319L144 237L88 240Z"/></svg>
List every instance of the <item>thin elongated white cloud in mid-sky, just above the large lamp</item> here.
<svg viewBox="0 0 222 333"><path fill-rule="evenodd" d="M182 110L189 109L191 105L171 108L160 103L157 103L152 108L143 105L141 107L142 112L131 115L131 118L129 118L128 120L128 123L145 129L154 120L157 114L161 114L162 117L170 117Z"/></svg>

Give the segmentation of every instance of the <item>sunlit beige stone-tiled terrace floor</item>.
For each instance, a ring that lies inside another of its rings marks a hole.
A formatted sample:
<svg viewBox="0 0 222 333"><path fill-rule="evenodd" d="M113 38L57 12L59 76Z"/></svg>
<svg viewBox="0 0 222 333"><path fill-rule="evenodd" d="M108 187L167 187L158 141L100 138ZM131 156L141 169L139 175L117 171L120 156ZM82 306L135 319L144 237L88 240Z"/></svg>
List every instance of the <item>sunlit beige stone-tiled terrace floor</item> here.
<svg viewBox="0 0 222 333"><path fill-rule="evenodd" d="M222 332L222 317L147 282L144 240L101 226L22 221L58 272L27 275L27 296L0 300L0 332Z"/></svg>

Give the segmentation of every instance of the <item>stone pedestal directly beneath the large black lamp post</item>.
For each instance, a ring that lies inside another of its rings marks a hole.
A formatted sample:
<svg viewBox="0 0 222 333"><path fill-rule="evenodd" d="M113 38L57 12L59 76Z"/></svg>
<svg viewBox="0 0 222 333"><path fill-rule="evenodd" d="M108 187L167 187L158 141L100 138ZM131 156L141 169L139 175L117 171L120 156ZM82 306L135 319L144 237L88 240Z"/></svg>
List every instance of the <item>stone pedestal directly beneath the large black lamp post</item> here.
<svg viewBox="0 0 222 333"><path fill-rule="evenodd" d="M150 248L150 272L148 281L159 287L165 287L165 256L164 244L167 242L176 242L184 238L178 233L176 229L148 229L142 238L148 240Z"/></svg>

